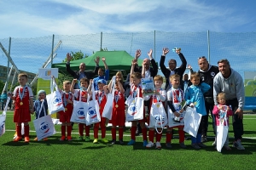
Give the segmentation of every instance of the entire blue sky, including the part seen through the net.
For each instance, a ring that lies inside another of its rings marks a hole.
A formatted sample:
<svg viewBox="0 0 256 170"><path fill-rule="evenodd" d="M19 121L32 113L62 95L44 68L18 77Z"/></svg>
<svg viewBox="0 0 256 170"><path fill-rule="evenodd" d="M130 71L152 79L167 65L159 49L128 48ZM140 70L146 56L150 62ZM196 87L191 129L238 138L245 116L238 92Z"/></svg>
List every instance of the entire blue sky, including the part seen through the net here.
<svg viewBox="0 0 256 170"><path fill-rule="evenodd" d="M254 0L0 0L0 7L0 42L8 50L12 37L11 56L20 70L37 72L51 52L53 35L55 45L62 41L54 60L59 63L67 52L82 50L90 55L98 50L101 32L103 37L112 36L108 40L103 38L103 48L125 50L131 55L142 48L145 58L148 49L154 46L150 37L157 31L162 42L155 49L156 61L160 61L162 47L178 47L182 48L188 64L197 70L197 58L207 56L209 30L213 32L210 34L213 64L226 56L232 57L231 66L239 71L245 67L246 71L252 71L256 64L251 59L256 54ZM142 33L137 35L137 32ZM0 65L6 65L2 50L0 58ZM27 67L27 63L34 67Z"/></svg>

